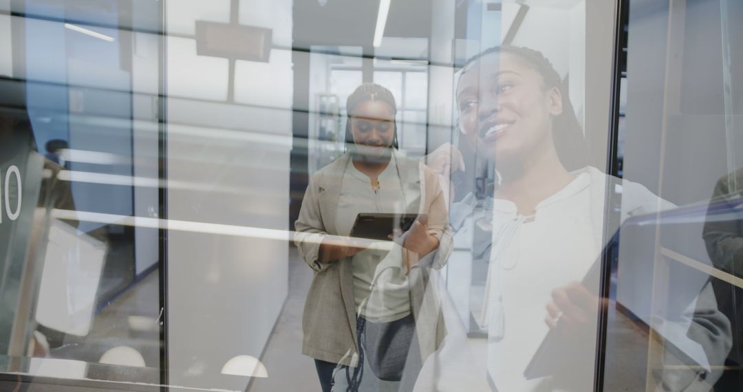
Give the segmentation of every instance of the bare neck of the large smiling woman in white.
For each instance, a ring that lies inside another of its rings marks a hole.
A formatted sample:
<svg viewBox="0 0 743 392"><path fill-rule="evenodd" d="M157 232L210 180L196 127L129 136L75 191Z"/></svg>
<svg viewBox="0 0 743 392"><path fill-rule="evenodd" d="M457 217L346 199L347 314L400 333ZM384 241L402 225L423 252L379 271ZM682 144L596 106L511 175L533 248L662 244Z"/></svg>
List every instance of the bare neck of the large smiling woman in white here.
<svg viewBox="0 0 743 392"><path fill-rule="evenodd" d="M533 215L542 200L554 195L575 179L562 166L554 148L550 148L545 154L538 154L536 159L516 166L516 170L499 171L502 181L496 197L516 203L519 214L522 215Z"/></svg>

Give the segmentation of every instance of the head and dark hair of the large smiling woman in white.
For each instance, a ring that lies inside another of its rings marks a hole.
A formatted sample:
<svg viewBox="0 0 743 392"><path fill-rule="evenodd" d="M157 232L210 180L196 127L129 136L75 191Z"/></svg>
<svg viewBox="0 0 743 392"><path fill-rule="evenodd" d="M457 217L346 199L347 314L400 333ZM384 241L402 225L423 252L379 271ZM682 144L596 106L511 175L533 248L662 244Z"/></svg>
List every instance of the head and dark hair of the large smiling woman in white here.
<svg viewBox="0 0 743 392"><path fill-rule="evenodd" d="M494 47L473 57L461 71L456 98L464 139L499 160L501 175L535 160L553 160L568 171L590 163L561 79L536 50Z"/></svg>

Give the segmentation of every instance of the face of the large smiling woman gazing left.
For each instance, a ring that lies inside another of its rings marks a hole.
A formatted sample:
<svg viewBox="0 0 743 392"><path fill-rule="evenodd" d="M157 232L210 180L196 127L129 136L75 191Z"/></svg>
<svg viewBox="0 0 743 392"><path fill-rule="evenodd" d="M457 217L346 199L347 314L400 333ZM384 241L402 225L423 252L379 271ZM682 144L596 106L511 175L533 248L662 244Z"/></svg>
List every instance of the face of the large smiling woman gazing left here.
<svg viewBox="0 0 743 392"><path fill-rule="evenodd" d="M557 88L510 53L490 53L462 73L459 126L467 143L496 163L516 163L554 148L552 117L562 113Z"/></svg>

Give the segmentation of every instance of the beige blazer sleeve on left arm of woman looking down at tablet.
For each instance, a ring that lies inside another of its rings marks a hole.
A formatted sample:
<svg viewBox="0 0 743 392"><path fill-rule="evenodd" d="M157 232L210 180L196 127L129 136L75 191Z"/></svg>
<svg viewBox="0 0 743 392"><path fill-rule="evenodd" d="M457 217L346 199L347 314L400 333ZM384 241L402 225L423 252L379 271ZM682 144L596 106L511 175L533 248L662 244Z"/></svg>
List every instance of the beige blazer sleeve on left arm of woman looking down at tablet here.
<svg viewBox="0 0 743 392"><path fill-rule="evenodd" d="M320 244L328 233L325 232L322 215L320 215L319 196L322 192L318 183L319 178L316 174L311 177L305 197L302 198L299 218L294 222L294 244L299 249L299 255L305 263L313 270L320 272L325 270L330 263L319 260Z"/></svg>

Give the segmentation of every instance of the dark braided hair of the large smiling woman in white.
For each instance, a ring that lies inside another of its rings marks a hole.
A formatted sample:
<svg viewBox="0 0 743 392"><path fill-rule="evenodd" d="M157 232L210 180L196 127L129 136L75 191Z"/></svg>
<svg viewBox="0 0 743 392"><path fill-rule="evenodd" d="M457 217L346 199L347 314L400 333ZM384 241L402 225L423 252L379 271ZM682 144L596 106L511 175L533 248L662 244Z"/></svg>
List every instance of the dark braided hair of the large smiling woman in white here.
<svg viewBox="0 0 743 392"><path fill-rule="evenodd" d="M585 142L583 129L575 116L573 104L568 98L568 88L562 83L559 73L552 63L539 50L518 46L493 46L467 60L462 68L462 74L467 72L474 63L490 53L508 53L518 56L528 67L542 75L545 89L557 88L562 95L562 113L552 120L552 132L555 149L562 166L568 171L582 169L591 164L591 155L588 143ZM461 76L460 76L461 77Z"/></svg>

